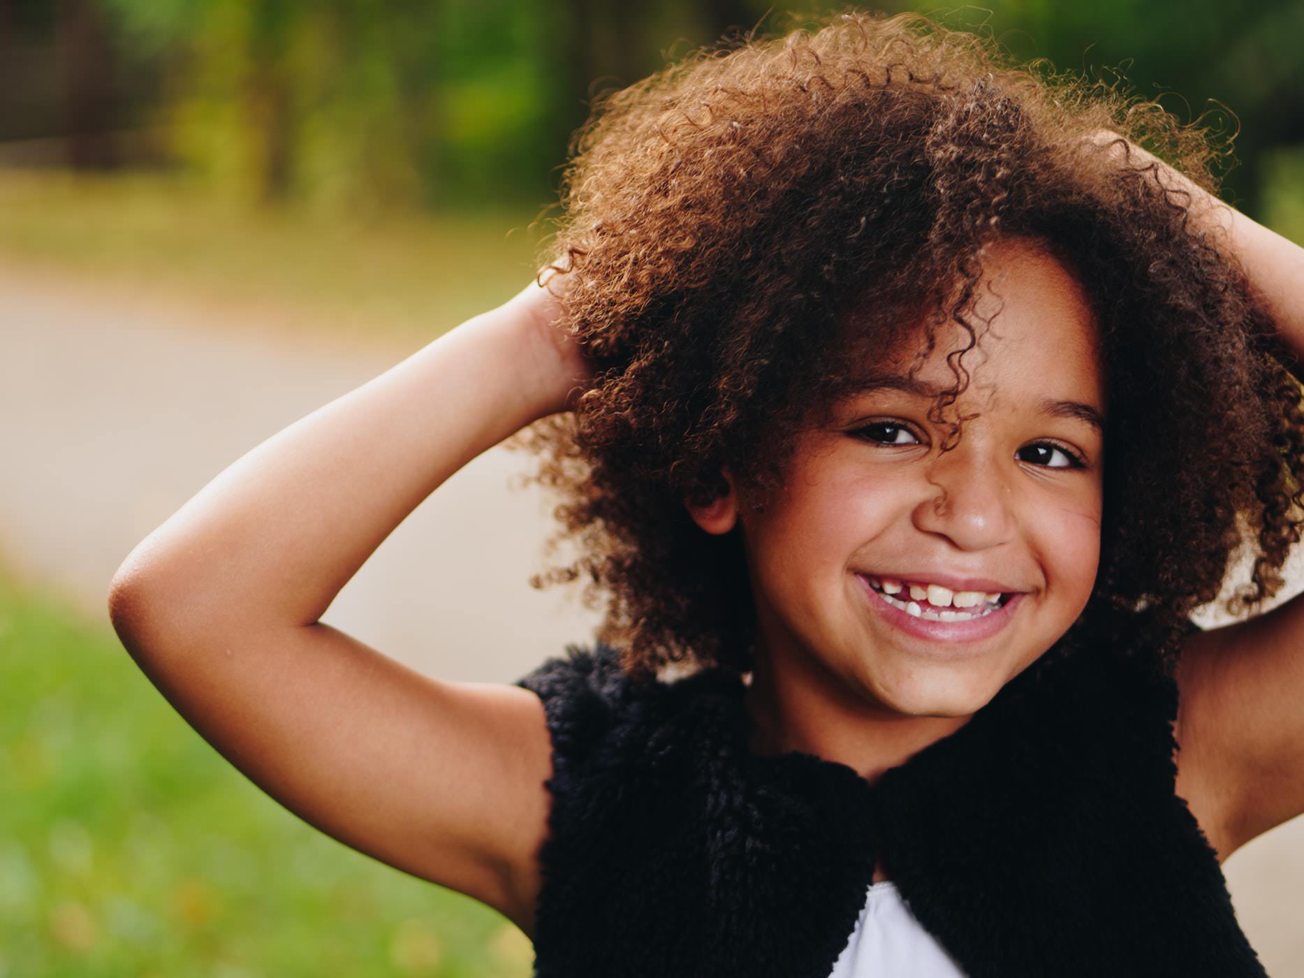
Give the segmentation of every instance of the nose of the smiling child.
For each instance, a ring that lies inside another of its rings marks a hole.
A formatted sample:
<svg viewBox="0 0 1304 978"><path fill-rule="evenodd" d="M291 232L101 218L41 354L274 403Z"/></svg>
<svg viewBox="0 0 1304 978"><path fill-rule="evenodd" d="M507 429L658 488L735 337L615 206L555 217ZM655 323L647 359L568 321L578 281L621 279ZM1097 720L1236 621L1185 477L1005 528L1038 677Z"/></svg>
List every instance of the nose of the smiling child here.
<svg viewBox="0 0 1304 978"><path fill-rule="evenodd" d="M928 467L927 492L914 509L914 523L961 550L983 550L1015 539L1013 489L998 462L968 441L966 436Z"/></svg>

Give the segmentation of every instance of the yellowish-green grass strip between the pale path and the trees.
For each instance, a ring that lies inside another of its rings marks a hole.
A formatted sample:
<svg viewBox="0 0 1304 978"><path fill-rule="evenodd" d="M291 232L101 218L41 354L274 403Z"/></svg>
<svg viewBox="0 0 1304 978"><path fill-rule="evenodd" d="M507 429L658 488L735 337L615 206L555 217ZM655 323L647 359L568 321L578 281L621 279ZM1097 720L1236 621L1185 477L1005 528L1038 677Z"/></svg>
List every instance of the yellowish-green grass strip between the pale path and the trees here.
<svg viewBox="0 0 1304 978"><path fill-rule="evenodd" d="M0 259L266 306L262 318L433 338L526 286L544 203L347 222L253 210L181 177L0 171Z"/></svg>

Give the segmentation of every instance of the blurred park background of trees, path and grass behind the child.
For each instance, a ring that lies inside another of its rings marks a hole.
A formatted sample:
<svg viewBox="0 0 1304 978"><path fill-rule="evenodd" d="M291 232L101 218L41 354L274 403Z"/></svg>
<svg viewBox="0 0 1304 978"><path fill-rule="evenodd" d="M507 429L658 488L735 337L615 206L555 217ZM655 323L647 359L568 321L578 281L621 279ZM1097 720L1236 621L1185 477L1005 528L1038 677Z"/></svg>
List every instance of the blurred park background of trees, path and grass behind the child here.
<svg viewBox="0 0 1304 978"><path fill-rule="evenodd" d="M911 9L1235 132L1224 198L1304 241L1304 0ZM595 95L785 10L0 0L0 978L529 974L498 914L216 755L108 582L241 454L518 291ZM552 503L523 466L454 476L325 621L447 679L588 640L527 584ZM1304 975L1304 822L1223 868L1269 973Z"/></svg>

